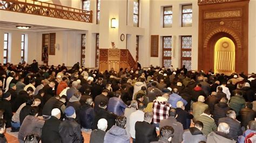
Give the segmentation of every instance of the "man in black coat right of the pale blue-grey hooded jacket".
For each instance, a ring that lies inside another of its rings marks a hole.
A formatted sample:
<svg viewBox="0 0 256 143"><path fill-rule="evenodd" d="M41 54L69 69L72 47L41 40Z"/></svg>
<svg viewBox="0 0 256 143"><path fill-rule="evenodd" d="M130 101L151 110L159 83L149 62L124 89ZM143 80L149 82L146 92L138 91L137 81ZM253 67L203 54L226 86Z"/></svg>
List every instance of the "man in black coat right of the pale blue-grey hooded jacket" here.
<svg viewBox="0 0 256 143"><path fill-rule="evenodd" d="M151 141L158 141L156 126L151 124L153 119L152 112L144 114L144 121L137 121L135 124L135 142L149 143Z"/></svg>

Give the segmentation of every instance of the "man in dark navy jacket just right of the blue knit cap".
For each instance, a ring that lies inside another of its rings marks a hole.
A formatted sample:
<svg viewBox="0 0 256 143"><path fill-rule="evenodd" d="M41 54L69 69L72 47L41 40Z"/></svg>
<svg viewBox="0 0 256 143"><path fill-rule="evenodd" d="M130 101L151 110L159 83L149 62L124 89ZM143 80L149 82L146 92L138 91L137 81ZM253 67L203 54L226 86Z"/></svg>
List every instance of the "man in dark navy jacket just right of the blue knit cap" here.
<svg viewBox="0 0 256 143"><path fill-rule="evenodd" d="M79 111L79 118L81 126L85 129L91 129L95 113L92 108L92 98L87 98L86 103L81 106Z"/></svg>

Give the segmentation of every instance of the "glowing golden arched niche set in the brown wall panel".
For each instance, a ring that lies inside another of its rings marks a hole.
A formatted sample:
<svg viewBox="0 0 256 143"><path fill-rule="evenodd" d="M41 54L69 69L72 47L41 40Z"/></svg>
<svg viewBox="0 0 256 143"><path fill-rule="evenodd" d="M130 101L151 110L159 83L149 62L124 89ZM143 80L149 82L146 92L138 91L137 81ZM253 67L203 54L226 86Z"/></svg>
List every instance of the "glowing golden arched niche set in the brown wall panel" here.
<svg viewBox="0 0 256 143"><path fill-rule="evenodd" d="M214 45L214 72L232 74L235 71L235 45L227 37L220 38Z"/></svg>

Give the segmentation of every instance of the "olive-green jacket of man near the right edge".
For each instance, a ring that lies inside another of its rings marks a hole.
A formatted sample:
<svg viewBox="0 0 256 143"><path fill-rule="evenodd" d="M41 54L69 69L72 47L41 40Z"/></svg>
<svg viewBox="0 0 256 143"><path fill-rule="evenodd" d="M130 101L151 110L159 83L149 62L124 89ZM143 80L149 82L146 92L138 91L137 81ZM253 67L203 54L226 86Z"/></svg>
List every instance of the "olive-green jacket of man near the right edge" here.
<svg viewBox="0 0 256 143"><path fill-rule="evenodd" d="M245 99L244 97L238 95L232 96L230 98L230 103L228 103L228 106L237 113L237 116L239 116L240 110L242 108L245 108Z"/></svg>

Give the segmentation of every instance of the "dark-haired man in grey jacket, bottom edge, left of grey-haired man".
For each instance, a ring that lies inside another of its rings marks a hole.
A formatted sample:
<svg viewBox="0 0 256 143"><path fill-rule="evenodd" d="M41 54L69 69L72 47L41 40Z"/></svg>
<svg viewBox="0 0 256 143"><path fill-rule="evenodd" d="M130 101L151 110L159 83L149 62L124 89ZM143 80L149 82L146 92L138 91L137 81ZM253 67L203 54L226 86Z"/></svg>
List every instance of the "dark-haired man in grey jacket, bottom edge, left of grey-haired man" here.
<svg viewBox="0 0 256 143"><path fill-rule="evenodd" d="M201 121L195 121L194 127L190 127L183 133L183 143L198 143L199 141L206 141L206 137L201 132L204 124Z"/></svg>

